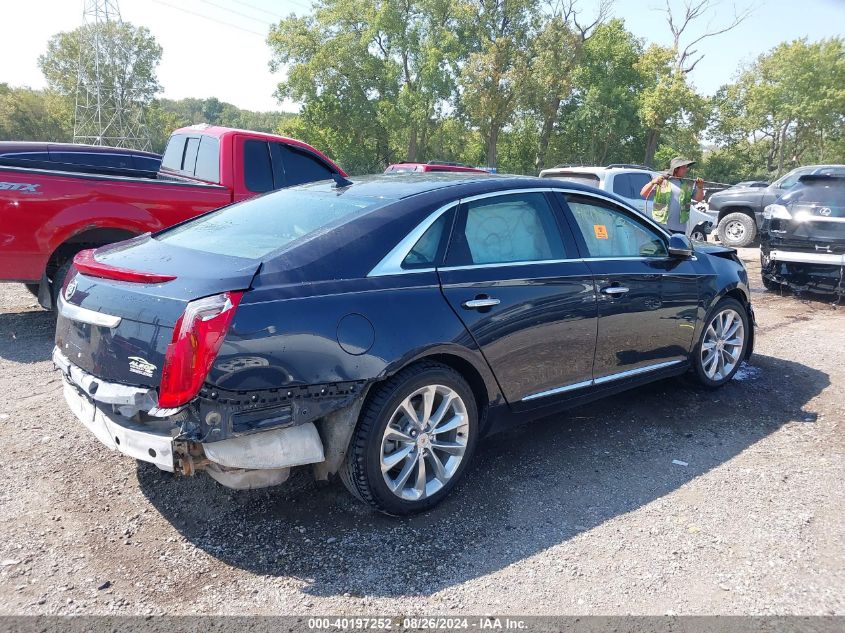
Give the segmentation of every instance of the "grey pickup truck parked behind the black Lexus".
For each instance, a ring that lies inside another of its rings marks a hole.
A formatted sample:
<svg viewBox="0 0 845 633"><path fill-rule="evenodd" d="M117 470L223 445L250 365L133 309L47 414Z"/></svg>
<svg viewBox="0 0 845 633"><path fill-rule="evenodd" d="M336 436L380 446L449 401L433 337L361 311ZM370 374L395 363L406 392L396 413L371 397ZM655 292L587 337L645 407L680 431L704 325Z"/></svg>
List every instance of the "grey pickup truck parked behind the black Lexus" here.
<svg viewBox="0 0 845 633"><path fill-rule="evenodd" d="M798 167L768 187L731 187L714 193L708 201L708 213L718 226L719 240L725 246L751 244L763 223L763 209L808 174L845 174L845 165Z"/></svg>

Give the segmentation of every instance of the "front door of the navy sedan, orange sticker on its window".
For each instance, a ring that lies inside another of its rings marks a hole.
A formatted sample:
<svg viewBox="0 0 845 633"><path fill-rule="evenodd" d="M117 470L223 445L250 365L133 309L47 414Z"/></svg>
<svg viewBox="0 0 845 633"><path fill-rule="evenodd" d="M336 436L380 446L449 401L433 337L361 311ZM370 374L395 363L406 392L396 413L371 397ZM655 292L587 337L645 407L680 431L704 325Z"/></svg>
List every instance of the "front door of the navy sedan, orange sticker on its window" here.
<svg viewBox="0 0 845 633"><path fill-rule="evenodd" d="M621 205L560 195L596 283L595 383L684 362L698 309L693 261L670 257L665 233Z"/></svg>

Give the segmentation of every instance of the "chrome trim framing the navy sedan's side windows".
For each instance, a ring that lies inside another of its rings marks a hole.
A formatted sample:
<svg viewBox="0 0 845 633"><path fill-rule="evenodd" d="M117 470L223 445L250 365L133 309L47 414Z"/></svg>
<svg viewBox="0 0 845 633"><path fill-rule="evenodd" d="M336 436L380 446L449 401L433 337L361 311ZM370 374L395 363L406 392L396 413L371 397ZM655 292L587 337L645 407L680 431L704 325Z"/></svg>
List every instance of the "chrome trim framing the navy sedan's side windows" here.
<svg viewBox="0 0 845 633"><path fill-rule="evenodd" d="M410 233L408 233L404 238L402 238L399 243L394 246L390 252L385 255L381 261L375 265L375 267L367 274L367 277L384 277L387 275L408 275L413 273L422 273L422 272L434 272L435 270L471 270L475 268L493 268L493 267L501 267L501 266L527 266L529 264L557 264L557 263L569 263L569 262L578 262L578 261L601 261L601 260L627 260L632 261L636 259L643 259L647 261L654 261L658 259L668 259L665 255L660 255L657 257L643 257L643 258L635 258L635 257L576 257L576 258L567 258L567 259L546 259L546 260L537 260L537 261L526 261L526 262L494 262L490 264L468 264L466 266L447 266L447 267L440 267L439 269L436 268L402 268L402 262L408 256L408 253L414 247L414 244L419 241L419 239L423 236L423 234L434 224L440 216L449 211L452 208L458 207L461 204L465 204L468 202L474 202L476 200L484 200L486 198L495 198L499 196L508 196L514 194L521 194L521 193L571 193L574 195L582 195L588 198L597 198L604 202L608 202L612 205L616 205L621 207L622 209L628 211L629 213L633 214L636 218L641 218L645 221L645 223L654 228L658 235L662 235L666 241L666 248L668 250L669 245L669 234L663 230L663 228L648 218L647 216L643 215L636 208L634 208L631 204L626 203L624 200L616 200L609 196L603 195L601 192L592 192L592 191L581 191L578 189L570 189L567 187L528 187L525 189L504 189L501 191L488 191L487 193L479 193L474 196L467 196L465 198L459 198L458 200L452 200L451 202L443 205L433 213L431 213L425 220L420 222ZM577 227L576 227L577 228ZM579 229L580 230L580 229Z"/></svg>

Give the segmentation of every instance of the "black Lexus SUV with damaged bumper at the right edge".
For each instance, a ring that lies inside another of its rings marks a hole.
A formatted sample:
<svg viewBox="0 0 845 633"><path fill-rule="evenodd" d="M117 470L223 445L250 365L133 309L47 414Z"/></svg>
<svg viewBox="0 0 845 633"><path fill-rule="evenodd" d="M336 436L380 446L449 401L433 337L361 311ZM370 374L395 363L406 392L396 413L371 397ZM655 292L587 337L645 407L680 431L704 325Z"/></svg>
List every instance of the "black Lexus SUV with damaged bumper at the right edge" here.
<svg viewBox="0 0 845 633"><path fill-rule="evenodd" d="M763 285L845 295L845 174L801 176L763 211Z"/></svg>

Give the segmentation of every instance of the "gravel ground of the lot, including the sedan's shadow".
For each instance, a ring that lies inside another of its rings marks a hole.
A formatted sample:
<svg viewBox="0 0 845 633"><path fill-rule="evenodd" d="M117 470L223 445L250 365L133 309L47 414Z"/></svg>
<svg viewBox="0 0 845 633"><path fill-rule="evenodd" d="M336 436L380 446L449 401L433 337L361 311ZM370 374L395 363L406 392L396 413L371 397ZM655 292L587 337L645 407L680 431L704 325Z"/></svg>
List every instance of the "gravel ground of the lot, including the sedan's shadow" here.
<svg viewBox="0 0 845 633"><path fill-rule="evenodd" d="M64 405L51 316L0 286L0 614L843 614L845 307L765 292L742 255L759 329L731 384L490 438L401 520L109 452Z"/></svg>

